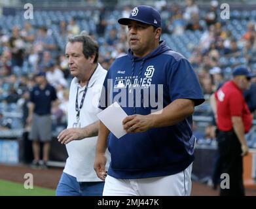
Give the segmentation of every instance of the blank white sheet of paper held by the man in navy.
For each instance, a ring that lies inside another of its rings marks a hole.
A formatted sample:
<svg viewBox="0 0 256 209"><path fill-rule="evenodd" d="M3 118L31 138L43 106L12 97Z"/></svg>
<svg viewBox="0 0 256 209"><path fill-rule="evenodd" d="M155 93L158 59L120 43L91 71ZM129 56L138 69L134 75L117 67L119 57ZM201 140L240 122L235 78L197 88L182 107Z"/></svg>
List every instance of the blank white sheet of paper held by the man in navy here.
<svg viewBox="0 0 256 209"><path fill-rule="evenodd" d="M120 138L126 135L126 131L124 131L124 127L122 126L122 121L127 117L127 114L120 107L119 103L113 103L97 114L97 116L115 137Z"/></svg>

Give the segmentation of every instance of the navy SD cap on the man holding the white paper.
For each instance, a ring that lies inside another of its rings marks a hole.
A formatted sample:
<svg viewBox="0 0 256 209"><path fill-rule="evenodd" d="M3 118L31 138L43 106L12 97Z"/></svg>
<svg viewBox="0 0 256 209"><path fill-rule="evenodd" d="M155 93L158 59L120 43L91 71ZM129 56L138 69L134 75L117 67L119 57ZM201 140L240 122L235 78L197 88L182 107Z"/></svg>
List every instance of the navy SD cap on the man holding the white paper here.
<svg viewBox="0 0 256 209"><path fill-rule="evenodd" d="M161 27L162 25L159 12L155 8L146 5L135 7L129 18L120 18L118 22L121 25L128 25L131 20L143 22L143 24L153 25L155 27Z"/></svg>

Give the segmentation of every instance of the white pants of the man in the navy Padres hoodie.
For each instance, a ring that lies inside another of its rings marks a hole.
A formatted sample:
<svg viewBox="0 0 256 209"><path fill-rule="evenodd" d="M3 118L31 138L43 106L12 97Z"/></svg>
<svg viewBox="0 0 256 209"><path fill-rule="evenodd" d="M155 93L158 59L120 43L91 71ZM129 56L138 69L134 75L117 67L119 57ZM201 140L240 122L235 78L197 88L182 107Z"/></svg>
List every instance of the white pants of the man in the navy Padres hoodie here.
<svg viewBox="0 0 256 209"><path fill-rule="evenodd" d="M103 196L189 196L192 163L187 169L170 176L118 179L107 175Z"/></svg>

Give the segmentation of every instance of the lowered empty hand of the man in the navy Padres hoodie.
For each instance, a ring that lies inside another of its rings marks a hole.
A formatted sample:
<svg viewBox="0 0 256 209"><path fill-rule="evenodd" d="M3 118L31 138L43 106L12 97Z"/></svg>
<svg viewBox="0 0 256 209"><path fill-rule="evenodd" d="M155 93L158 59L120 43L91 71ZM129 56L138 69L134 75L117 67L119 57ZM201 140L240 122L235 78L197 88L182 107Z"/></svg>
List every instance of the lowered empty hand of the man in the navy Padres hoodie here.
<svg viewBox="0 0 256 209"><path fill-rule="evenodd" d="M97 176L105 181L107 176L107 170L105 170L105 165L107 163L107 158L105 157L105 153L96 154L94 161L94 170L96 171Z"/></svg>

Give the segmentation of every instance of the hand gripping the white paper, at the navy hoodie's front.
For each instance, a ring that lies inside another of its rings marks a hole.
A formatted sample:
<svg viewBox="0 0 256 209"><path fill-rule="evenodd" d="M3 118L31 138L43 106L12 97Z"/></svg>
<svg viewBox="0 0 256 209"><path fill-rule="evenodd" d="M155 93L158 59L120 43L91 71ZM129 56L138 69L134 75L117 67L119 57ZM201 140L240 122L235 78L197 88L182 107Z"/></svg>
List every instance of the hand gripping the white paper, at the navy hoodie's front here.
<svg viewBox="0 0 256 209"><path fill-rule="evenodd" d="M132 115L124 118L122 125L126 133L145 132L154 126L153 116Z"/></svg>

